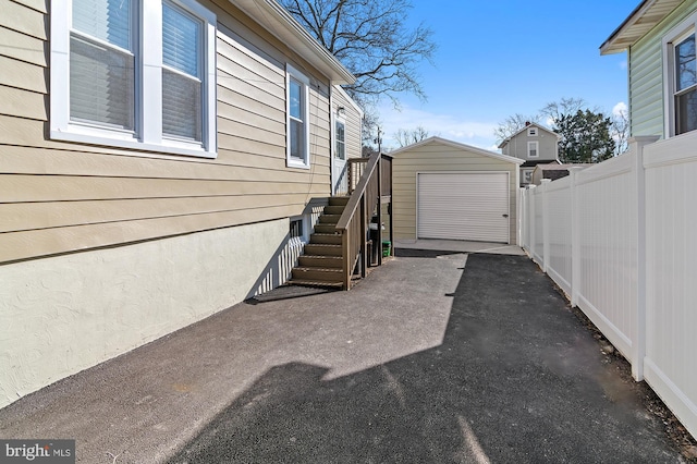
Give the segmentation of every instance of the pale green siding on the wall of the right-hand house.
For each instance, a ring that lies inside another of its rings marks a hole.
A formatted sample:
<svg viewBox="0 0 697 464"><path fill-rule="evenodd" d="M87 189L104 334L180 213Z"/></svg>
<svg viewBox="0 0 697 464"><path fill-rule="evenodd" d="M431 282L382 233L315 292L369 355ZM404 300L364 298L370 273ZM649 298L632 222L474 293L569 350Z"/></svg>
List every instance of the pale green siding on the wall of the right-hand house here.
<svg viewBox="0 0 697 464"><path fill-rule="evenodd" d="M697 7L686 1L629 49L629 120L632 135L665 137L662 40Z"/></svg>

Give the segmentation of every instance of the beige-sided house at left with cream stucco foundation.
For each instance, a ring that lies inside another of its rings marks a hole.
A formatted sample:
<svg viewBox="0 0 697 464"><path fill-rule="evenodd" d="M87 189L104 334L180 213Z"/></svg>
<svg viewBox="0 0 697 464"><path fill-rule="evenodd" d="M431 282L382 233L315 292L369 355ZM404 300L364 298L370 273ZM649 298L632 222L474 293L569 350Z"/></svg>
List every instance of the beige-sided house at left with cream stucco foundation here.
<svg viewBox="0 0 697 464"><path fill-rule="evenodd" d="M359 156L274 0L152 3L3 3L0 407L282 283Z"/></svg>

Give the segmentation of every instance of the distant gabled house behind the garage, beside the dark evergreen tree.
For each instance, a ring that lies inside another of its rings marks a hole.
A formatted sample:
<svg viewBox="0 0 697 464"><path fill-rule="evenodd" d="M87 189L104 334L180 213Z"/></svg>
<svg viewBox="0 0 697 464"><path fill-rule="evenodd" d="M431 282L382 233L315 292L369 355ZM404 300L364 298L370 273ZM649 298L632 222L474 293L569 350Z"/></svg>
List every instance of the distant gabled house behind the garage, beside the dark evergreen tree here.
<svg viewBox="0 0 697 464"><path fill-rule="evenodd" d="M526 122L525 127L504 139L499 148L503 155L525 161L521 166L521 186L524 187L533 182L537 164L558 161L559 135L540 124Z"/></svg>

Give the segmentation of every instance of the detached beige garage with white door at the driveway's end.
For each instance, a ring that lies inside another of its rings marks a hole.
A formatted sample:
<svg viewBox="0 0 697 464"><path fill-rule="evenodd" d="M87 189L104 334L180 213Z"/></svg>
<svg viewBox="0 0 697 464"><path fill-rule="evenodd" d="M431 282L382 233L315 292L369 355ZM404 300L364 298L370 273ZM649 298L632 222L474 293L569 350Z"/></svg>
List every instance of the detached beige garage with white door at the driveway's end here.
<svg viewBox="0 0 697 464"><path fill-rule="evenodd" d="M390 155L395 239L516 242L523 160L440 137Z"/></svg>

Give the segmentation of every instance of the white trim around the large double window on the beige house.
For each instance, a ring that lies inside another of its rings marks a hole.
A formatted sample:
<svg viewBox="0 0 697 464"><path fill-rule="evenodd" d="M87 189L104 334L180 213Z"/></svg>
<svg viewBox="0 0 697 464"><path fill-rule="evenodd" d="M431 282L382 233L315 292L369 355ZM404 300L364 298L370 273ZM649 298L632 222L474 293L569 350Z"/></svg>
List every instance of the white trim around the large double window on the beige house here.
<svg viewBox="0 0 697 464"><path fill-rule="evenodd" d="M217 157L216 109L216 14L193 0L168 0L204 22L203 143L187 143L162 136L162 4L136 2L139 27L136 44L140 60L136 62L136 133L109 130L97 125L77 124L70 120L70 29L72 1L51 1L51 68L50 68L50 138L108 147L130 148L173 155ZM144 46L147 44L147 47ZM137 156L137 152L129 152Z"/></svg>

